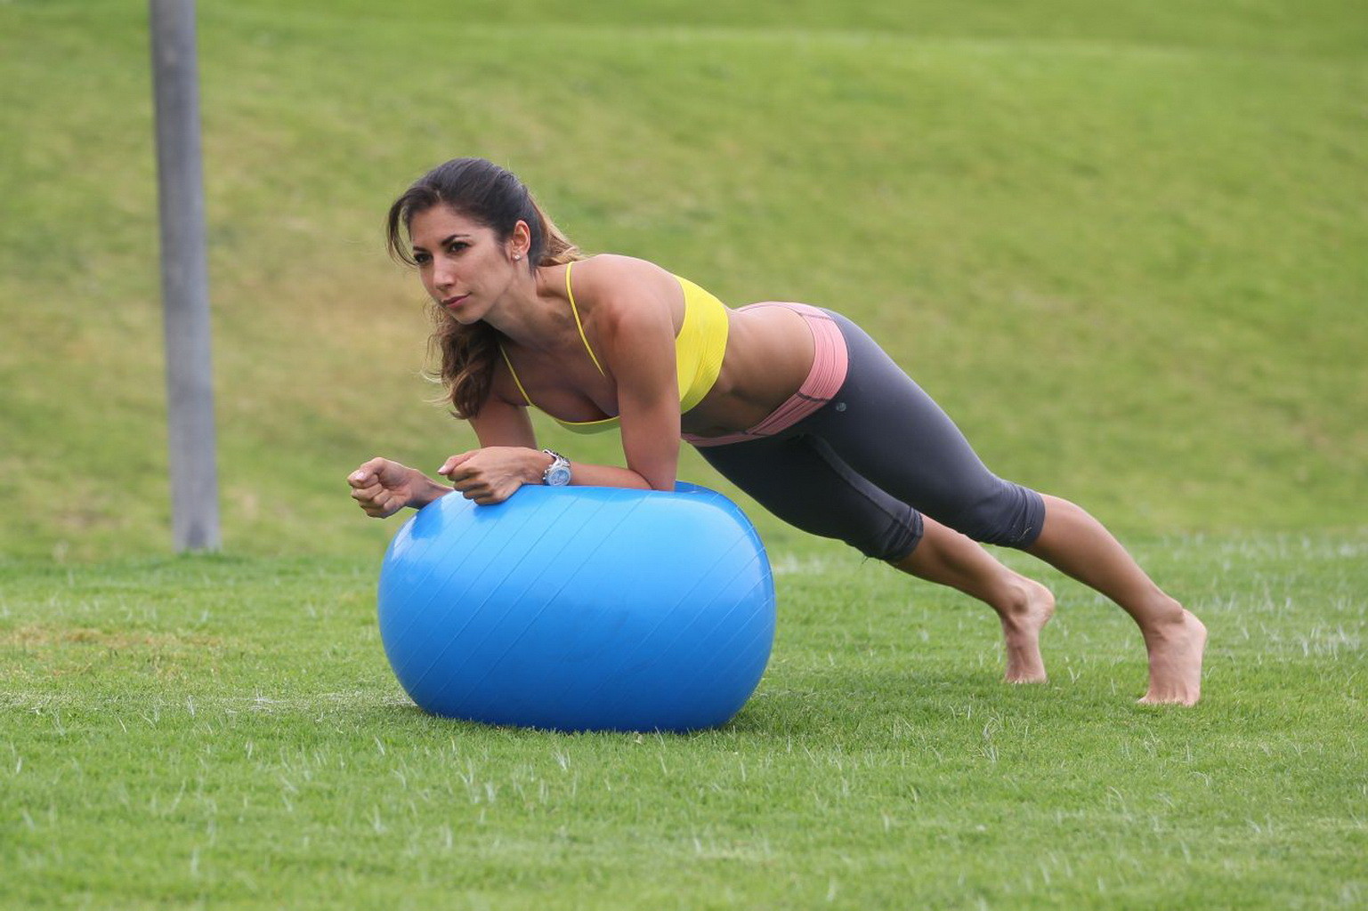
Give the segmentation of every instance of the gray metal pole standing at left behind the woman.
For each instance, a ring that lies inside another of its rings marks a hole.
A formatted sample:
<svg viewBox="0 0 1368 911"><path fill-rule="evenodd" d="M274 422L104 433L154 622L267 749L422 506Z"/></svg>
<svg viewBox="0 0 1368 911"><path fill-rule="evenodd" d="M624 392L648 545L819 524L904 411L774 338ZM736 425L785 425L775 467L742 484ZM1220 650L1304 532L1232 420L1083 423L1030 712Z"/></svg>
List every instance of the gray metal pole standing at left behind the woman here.
<svg viewBox="0 0 1368 911"><path fill-rule="evenodd" d="M172 532L178 551L218 550L219 481L194 0L149 1Z"/></svg>

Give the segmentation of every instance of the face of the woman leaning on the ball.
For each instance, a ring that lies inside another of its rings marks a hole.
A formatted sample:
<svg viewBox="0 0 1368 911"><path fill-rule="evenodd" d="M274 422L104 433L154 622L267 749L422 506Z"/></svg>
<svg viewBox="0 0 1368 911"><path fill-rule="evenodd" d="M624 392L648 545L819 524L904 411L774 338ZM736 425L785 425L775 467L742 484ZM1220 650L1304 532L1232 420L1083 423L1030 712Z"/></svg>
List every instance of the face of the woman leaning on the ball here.
<svg viewBox="0 0 1368 911"><path fill-rule="evenodd" d="M494 228L446 205L424 209L409 222L423 287L438 306L465 324L483 319L518 272L527 274L520 269L527 256L525 234L518 222L513 237L501 242Z"/></svg>

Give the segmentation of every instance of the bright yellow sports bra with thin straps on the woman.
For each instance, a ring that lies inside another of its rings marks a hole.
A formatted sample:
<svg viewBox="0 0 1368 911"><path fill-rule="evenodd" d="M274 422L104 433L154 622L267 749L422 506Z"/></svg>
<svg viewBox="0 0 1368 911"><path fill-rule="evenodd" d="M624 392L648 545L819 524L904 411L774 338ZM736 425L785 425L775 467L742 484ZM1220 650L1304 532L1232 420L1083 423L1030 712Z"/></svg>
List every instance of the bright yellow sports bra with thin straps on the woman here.
<svg viewBox="0 0 1368 911"><path fill-rule="evenodd" d="M575 291L570 290L572 265L575 264L566 263L565 265L565 294L570 298L570 313L575 315L575 327L580 331L580 341L584 342L584 350L588 352L594 367L598 368L599 373L605 373L603 365L599 364L594 349L590 347L588 338L584 335L580 311L575 305ZM680 413L683 414L703 401L703 397L707 395L709 390L717 382L718 373L722 372L722 356L726 353L726 306L688 279L677 275L674 279L684 289L684 324L680 326L679 335L674 336L674 373L679 379ZM509 360L508 352L503 350L502 345L499 345L499 354L503 356L503 362L508 364L509 373L513 375L513 382L517 383L517 391L523 394L523 399L529 406L536 408L532 405L532 398L527 394L527 390L523 388L523 380L517 378L513 361ZM617 430L618 427L617 416L596 421L562 421L553 414L551 420L576 434L598 434Z"/></svg>

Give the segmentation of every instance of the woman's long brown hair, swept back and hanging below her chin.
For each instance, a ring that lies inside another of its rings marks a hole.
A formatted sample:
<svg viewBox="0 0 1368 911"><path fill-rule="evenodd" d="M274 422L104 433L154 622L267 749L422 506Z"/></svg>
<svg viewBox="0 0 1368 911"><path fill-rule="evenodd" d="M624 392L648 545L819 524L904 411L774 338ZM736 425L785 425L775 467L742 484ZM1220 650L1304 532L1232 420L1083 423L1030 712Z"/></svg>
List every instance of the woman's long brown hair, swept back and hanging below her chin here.
<svg viewBox="0 0 1368 911"><path fill-rule="evenodd" d="M491 228L501 242L513 235L518 222L527 223L531 233L529 271L581 259L579 248L546 216L527 186L512 171L484 159L451 159L439 164L394 201L386 222L390 256L417 265L405 238L413 216L436 205L447 205ZM462 326L450 313L434 306L428 347L440 354L440 372L434 379L446 386L451 413L464 419L479 414L494 382L499 334L483 321Z"/></svg>

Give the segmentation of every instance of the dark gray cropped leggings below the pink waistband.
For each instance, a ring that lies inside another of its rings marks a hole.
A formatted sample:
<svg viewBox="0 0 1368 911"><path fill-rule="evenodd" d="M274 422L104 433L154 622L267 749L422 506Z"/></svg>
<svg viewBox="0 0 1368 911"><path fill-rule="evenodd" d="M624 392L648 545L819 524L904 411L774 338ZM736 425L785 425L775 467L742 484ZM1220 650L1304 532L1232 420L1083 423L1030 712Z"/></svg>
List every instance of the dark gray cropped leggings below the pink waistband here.
<svg viewBox="0 0 1368 911"><path fill-rule="evenodd" d="M703 458L788 524L866 557L911 554L921 513L978 542L1030 547L1045 521L1041 495L989 472L874 339L832 317L850 356L836 397L774 436L699 447Z"/></svg>

